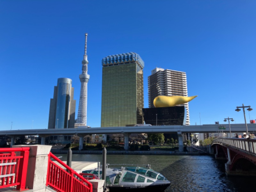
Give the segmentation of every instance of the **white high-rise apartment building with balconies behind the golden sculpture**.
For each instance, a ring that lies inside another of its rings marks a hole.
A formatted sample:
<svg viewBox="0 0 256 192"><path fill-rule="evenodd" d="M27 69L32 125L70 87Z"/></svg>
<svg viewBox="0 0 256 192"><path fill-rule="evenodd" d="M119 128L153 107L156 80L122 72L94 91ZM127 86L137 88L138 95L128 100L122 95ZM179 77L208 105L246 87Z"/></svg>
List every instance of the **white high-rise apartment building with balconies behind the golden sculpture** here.
<svg viewBox="0 0 256 192"><path fill-rule="evenodd" d="M188 97L187 75L185 72L155 68L148 76L148 107L154 108L153 101L159 95ZM183 104L187 110L186 125L190 124L188 103Z"/></svg>

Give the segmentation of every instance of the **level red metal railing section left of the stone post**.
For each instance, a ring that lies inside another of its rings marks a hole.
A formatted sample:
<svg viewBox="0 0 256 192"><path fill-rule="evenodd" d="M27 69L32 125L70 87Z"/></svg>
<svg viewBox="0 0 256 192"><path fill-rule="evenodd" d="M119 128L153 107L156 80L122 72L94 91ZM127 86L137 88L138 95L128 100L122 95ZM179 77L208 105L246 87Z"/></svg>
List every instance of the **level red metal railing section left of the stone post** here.
<svg viewBox="0 0 256 192"><path fill-rule="evenodd" d="M0 148L0 188L26 189L29 148Z"/></svg>

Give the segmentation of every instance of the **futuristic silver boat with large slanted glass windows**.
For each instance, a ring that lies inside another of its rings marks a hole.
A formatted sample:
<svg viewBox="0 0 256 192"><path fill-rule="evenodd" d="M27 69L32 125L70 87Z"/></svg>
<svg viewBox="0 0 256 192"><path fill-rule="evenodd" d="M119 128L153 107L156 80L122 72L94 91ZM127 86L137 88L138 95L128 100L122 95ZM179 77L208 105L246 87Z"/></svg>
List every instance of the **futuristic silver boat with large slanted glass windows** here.
<svg viewBox="0 0 256 192"><path fill-rule="evenodd" d="M124 164L122 164L124 165ZM83 171L84 177L88 177L88 173L98 175L99 169L91 169ZM100 168L100 179L102 177L102 169ZM147 167L121 166L106 168L106 187L109 192L115 191L164 191L171 182L162 174Z"/></svg>

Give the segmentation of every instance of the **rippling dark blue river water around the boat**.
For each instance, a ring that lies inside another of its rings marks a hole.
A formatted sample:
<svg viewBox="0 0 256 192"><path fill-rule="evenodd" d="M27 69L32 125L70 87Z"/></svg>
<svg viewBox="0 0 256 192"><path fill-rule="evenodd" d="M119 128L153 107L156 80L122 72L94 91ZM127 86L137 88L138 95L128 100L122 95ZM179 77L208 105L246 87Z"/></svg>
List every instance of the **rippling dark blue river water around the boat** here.
<svg viewBox="0 0 256 192"><path fill-rule="evenodd" d="M67 160L66 154L60 159ZM102 155L73 154L72 161L96 161ZM256 191L254 177L226 176L225 161L212 156L107 155L108 164L150 164L151 168L171 181L165 192L250 192Z"/></svg>

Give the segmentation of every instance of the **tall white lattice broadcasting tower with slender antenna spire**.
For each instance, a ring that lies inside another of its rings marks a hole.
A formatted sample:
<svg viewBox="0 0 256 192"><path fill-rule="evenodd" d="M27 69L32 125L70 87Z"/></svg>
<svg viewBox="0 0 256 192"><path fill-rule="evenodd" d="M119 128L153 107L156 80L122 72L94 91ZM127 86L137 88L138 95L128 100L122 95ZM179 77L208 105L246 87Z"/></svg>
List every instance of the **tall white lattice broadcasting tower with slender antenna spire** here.
<svg viewBox="0 0 256 192"><path fill-rule="evenodd" d="M85 46L84 46L84 59L82 60L82 74L79 75L81 82L80 99L78 106L77 124L86 125L87 118L87 83L90 76L87 74L88 71L88 60L87 60L87 33L85 33Z"/></svg>

